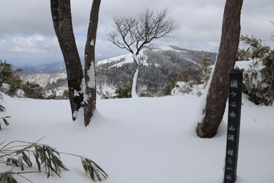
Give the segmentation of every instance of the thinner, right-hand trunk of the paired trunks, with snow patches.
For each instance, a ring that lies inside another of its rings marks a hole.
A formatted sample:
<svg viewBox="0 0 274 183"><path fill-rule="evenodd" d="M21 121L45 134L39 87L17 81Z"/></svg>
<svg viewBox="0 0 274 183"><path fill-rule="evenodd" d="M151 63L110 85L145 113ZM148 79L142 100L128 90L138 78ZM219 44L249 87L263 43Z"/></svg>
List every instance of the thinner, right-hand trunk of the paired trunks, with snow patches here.
<svg viewBox="0 0 274 183"><path fill-rule="evenodd" d="M90 11L90 23L88 25L88 36L85 47L85 82L86 100L84 106L84 123L87 126L96 109L96 81L95 81L95 42L97 25L99 19L99 8L101 0L93 0Z"/></svg>

